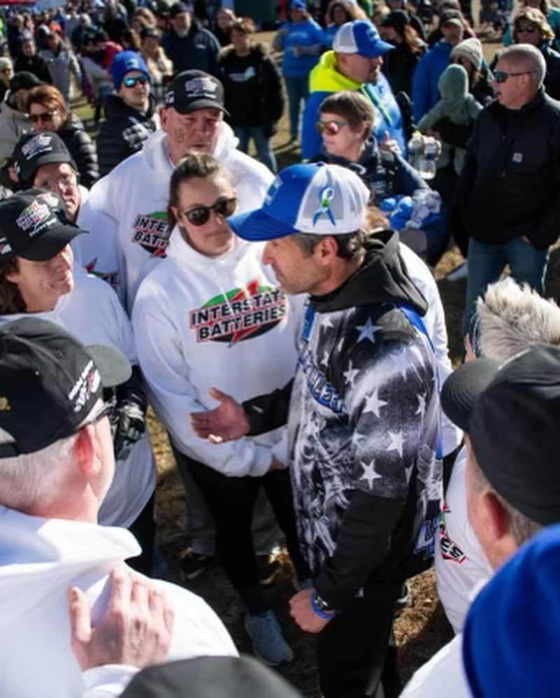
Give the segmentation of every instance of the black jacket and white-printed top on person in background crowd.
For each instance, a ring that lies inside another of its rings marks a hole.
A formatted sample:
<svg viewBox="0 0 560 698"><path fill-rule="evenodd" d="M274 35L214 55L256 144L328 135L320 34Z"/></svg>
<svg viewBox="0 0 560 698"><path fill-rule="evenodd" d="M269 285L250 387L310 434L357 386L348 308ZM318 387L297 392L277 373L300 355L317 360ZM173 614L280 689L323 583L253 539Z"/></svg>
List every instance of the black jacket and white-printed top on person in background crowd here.
<svg viewBox="0 0 560 698"><path fill-rule="evenodd" d="M228 122L234 127L262 126L265 136L272 136L284 111L284 97L280 73L266 48L254 44L247 56L238 56L233 46L225 48L217 66Z"/></svg>

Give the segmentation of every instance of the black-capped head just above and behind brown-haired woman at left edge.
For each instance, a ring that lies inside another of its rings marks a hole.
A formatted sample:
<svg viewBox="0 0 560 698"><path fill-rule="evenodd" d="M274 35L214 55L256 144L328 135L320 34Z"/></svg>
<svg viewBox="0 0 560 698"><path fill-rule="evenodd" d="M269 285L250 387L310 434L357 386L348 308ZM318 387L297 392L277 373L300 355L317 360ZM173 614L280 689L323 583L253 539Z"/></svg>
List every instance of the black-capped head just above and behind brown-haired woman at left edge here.
<svg viewBox="0 0 560 698"><path fill-rule="evenodd" d="M57 194L66 218L76 222L82 202L78 166L58 134L50 131L24 134L13 152L20 189L38 187Z"/></svg>

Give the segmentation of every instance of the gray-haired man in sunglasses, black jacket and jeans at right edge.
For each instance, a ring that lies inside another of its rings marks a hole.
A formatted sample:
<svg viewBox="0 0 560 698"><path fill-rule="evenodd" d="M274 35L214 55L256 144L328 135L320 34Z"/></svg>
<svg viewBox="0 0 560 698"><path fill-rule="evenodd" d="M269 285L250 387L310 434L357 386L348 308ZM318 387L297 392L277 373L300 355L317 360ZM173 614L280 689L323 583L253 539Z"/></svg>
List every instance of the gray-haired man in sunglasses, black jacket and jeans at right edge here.
<svg viewBox="0 0 560 698"><path fill-rule="evenodd" d="M545 94L542 53L504 49L494 70L496 101L475 122L453 214L470 236L463 332L475 300L499 278L543 291L548 248L560 233L560 103Z"/></svg>

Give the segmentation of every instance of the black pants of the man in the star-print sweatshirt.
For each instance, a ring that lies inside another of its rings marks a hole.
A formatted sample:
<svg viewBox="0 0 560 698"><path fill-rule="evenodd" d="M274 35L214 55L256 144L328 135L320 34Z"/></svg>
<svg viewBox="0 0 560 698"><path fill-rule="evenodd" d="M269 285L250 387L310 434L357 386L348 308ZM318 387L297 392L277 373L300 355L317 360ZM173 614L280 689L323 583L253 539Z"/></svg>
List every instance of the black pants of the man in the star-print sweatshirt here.
<svg viewBox="0 0 560 698"><path fill-rule="evenodd" d="M401 692L396 653L389 646L401 585L369 590L317 635L317 666L324 698L393 698Z"/></svg>

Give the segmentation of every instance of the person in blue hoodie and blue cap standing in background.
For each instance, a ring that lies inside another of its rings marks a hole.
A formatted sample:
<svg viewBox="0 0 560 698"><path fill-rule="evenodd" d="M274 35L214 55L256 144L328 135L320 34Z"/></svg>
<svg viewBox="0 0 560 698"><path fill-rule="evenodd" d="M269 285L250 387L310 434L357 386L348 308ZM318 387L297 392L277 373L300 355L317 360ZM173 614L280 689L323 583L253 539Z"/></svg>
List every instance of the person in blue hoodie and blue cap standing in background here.
<svg viewBox="0 0 560 698"><path fill-rule="evenodd" d="M273 40L273 48L283 51L282 76L286 83L289 109L289 135L298 137L301 103L309 94L309 71L319 59L324 44L323 29L311 19L304 0L294 0L289 6L290 21L282 24Z"/></svg>

